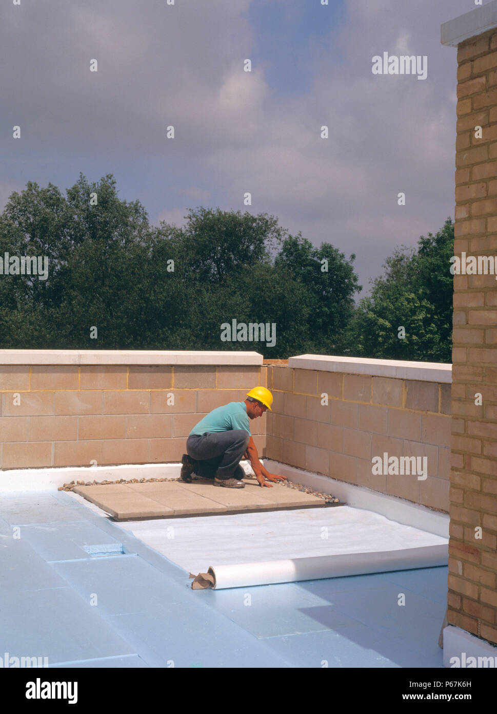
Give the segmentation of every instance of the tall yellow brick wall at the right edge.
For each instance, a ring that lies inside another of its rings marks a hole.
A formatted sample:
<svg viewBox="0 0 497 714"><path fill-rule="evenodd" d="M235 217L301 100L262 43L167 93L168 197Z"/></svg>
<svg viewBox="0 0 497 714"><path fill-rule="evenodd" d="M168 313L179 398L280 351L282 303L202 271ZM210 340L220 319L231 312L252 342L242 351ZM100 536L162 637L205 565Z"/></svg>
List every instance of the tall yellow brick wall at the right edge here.
<svg viewBox="0 0 497 714"><path fill-rule="evenodd" d="M458 47L454 255L497 255L497 32ZM483 137L476 138L481 126ZM497 283L454 276L450 625L497 643ZM481 394L481 399L478 398Z"/></svg>

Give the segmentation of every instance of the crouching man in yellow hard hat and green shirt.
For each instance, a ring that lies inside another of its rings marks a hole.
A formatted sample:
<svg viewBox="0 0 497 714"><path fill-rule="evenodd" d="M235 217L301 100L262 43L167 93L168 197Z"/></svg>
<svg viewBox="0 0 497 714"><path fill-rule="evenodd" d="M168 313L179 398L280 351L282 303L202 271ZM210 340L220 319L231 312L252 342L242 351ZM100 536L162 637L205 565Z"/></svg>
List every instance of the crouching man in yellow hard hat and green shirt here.
<svg viewBox="0 0 497 714"><path fill-rule="evenodd" d="M271 411L272 393L265 387L255 387L242 402L230 402L210 411L190 431L183 454L181 478L192 481L192 473L203 478L214 478L215 486L244 488L245 473L242 458L249 458L260 486L267 481L286 480L266 471L259 461L257 448L250 434L249 419L257 419L267 409Z"/></svg>

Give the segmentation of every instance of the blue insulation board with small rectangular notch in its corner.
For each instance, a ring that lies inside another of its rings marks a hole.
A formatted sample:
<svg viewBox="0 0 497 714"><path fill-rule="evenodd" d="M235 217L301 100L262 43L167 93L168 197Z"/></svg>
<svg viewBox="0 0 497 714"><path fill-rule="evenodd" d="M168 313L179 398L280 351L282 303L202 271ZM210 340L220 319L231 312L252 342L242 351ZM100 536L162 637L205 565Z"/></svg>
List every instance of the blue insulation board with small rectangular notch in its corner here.
<svg viewBox="0 0 497 714"><path fill-rule="evenodd" d="M122 542L88 521L22 526L21 535L47 561L88 558L85 546L113 544L117 547Z"/></svg>

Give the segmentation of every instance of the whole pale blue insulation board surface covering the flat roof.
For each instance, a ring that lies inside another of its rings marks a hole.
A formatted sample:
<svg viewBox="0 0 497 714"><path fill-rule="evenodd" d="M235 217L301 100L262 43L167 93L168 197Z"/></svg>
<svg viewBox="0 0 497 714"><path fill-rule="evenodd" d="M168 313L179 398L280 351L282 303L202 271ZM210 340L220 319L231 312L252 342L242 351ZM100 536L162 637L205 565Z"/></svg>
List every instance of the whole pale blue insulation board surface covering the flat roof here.
<svg viewBox="0 0 497 714"><path fill-rule="evenodd" d="M64 492L2 495L11 656L51 667L443 666L448 568L191 590L185 570L93 509Z"/></svg>

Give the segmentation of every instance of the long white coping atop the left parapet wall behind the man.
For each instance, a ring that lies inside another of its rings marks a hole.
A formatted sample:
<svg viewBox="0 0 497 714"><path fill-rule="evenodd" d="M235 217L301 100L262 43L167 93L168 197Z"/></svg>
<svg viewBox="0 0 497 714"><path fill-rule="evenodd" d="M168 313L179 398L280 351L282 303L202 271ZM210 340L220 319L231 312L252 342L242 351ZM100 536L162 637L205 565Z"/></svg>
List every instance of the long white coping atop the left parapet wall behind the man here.
<svg viewBox="0 0 497 714"><path fill-rule="evenodd" d="M0 365L262 365L258 352L0 350Z"/></svg>

